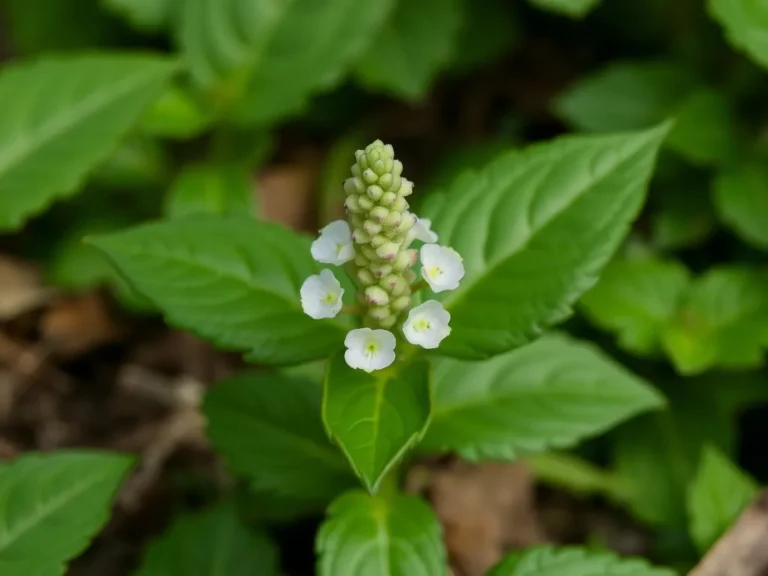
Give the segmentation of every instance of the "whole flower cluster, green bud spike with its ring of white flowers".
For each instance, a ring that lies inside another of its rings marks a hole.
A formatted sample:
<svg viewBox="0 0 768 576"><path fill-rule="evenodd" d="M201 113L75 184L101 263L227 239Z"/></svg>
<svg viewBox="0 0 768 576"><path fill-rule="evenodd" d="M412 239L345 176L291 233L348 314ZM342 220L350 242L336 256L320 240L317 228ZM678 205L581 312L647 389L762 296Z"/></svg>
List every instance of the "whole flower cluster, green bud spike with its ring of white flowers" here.
<svg viewBox="0 0 768 576"><path fill-rule="evenodd" d="M351 311L361 313L365 327L347 334L344 358L352 368L372 372L395 360L393 329L429 349L450 334L451 315L443 305L427 300L412 308L413 294L427 286L436 293L455 290L464 264L455 250L437 244L428 219L409 212L413 183L402 177L392 146L376 140L355 159L344 182L348 221L328 224L311 250L318 262L345 266L355 281L358 304ZM422 280L413 270L419 260ZM301 304L312 318L333 318L343 311L343 294L333 272L324 269L302 285Z"/></svg>

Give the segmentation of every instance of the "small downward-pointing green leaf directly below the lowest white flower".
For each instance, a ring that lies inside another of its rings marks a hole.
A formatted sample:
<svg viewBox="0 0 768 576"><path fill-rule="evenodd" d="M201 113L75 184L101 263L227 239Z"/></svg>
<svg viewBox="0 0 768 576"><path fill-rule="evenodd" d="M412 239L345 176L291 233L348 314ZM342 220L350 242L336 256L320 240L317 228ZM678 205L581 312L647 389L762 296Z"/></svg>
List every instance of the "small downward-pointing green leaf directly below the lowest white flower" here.
<svg viewBox="0 0 768 576"><path fill-rule="evenodd" d="M369 492L424 434L431 409L429 365L367 374L330 361L323 422Z"/></svg>

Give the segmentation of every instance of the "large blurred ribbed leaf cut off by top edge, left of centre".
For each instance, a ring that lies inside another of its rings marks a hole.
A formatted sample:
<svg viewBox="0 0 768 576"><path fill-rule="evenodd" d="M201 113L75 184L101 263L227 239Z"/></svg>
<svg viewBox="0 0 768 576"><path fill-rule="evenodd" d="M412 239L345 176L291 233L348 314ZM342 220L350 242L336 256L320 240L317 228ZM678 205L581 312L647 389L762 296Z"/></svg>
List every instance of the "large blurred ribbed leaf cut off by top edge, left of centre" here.
<svg viewBox="0 0 768 576"><path fill-rule="evenodd" d="M267 125L338 82L391 7L392 0L188 0L181 48L222 113Z"/></svg>

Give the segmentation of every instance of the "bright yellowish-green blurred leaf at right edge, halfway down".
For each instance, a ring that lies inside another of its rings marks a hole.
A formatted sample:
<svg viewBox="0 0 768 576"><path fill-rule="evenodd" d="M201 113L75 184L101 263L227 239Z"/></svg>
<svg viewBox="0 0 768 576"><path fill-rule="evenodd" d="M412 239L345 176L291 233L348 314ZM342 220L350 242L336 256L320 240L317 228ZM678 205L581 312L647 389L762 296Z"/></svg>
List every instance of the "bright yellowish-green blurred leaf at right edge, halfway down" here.
<svg viewBox="0 0 768 576"><path fill-rule="evenodd" d="M691 286L662 343L681 374L761 366L768 347L768 274L737 267L708 271Z"/></svg>

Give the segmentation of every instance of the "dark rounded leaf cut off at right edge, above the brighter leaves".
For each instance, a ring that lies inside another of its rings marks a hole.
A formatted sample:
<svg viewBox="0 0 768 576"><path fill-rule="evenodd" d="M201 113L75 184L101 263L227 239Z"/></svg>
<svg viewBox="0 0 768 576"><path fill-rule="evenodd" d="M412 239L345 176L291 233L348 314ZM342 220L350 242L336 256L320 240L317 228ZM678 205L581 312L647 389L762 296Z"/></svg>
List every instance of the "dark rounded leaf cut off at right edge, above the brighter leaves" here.
<svg viewBox="0 0 768 576"><path fill-rule="evenodd" d="M744 240L768 249L768 168L750 160L724 169L715 178L718 215Z"/></svg>

